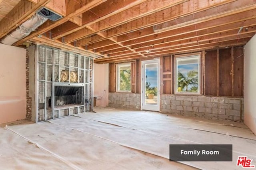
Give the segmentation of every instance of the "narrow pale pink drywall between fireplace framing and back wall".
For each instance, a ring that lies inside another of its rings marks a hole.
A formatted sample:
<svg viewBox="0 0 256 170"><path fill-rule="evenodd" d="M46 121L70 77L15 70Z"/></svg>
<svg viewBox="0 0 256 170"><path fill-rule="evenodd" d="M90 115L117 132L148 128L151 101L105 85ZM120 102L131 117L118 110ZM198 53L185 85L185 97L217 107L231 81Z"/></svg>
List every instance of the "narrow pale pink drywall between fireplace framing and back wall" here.
<svg viewBox="0 0 256 170"><path fill-rule="evenodd" d="M96 106L108 106L108 64L94 64Z"/></svg>

